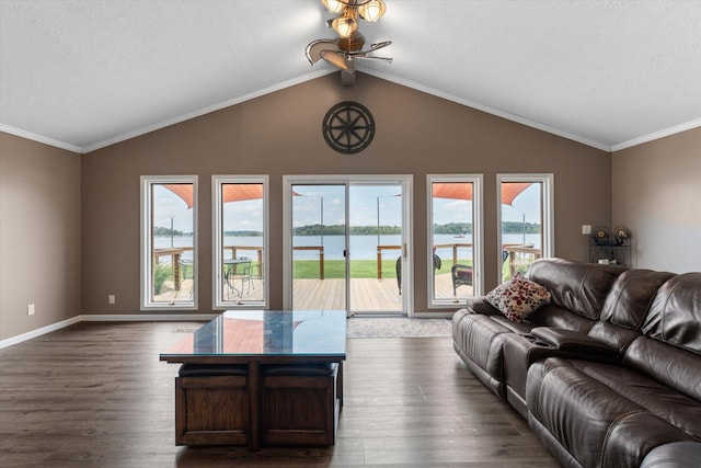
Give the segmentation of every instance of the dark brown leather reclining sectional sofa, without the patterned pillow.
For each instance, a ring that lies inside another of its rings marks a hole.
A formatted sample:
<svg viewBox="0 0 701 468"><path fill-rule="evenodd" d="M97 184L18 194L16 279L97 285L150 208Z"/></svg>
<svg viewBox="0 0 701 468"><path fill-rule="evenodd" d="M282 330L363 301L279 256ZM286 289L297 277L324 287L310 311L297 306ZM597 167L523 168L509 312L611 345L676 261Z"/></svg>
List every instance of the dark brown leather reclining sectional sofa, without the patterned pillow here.
<svg viewBox="0 0 701 468"><path fill-rule="evenodd" d="M543 259L526 277L552 295L527 321L484 298L453 316L467 367L563 466L701 467L701 273Z"/></svg>

